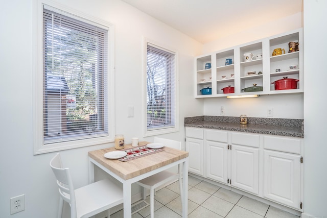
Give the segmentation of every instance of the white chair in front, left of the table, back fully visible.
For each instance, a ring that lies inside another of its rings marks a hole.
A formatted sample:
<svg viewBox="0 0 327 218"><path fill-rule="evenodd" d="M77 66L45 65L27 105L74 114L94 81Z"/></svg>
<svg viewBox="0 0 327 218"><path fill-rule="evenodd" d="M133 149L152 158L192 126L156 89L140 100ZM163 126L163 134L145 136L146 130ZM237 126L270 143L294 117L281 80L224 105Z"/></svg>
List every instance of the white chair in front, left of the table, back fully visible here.
<svg viewBox="0 0 327 218"><path fill-rule="evenodd" d="M56 176L59 187L59 212L62 216L63 203L71 206L71 218L90 217L109 208L123 203L123 189L109 179L91 183L74 190L69 168L63 168L60 154L50 161L50 166Z"/></svg>

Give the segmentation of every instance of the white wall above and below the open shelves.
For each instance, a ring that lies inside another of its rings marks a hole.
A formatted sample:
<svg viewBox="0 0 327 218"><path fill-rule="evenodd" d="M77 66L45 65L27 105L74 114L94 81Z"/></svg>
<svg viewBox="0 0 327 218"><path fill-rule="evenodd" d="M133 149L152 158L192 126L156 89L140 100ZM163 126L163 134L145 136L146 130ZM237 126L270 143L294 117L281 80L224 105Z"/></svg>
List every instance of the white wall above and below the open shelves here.
<svg viewBox="0 0 327 218"><path fill-rule="evenodd" d="M209 54L235 45L266 38L302 27L302 13L297 13L263 26L248 29L203 45L203 53ZM267 117L267 109L273 108L273 118L303 119L303 94L261 95L255 99L204 99L205 115L220 115L224 106L225 116Z"/></svg>

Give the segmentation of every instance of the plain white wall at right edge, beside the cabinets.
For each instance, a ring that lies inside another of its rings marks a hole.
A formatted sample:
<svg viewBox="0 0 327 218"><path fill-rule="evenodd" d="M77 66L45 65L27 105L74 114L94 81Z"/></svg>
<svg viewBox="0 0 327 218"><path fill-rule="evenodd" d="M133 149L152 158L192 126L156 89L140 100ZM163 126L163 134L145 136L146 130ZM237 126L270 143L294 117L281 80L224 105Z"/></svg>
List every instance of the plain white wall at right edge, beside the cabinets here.
<svg viewBox="0 0 327 218"><path fill-rule="evenodd" d="M309 217L327 217L327 144L325 81L327 1L304 0L305 49L305 193L303 207Z"/></svg>

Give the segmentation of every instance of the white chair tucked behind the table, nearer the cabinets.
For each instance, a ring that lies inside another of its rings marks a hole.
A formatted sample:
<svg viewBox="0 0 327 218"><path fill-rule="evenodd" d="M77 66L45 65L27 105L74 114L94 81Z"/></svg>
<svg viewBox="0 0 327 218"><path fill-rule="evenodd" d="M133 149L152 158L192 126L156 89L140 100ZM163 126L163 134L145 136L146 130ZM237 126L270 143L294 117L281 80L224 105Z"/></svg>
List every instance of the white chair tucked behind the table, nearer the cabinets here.
<svg viewBox="0 0 327 218"><path fill-rule="evenodd" d="M155 143L163 143L167 147L181 150L181 142L180 141L154 137L154 142ZM180 195L182 195L182 175L181 175L180 165L178 165L177 173L173 173L173 172L166 170L166 171L162 171L160 173L157 173L155 175L152 175L150 177L147 177L147 178L137 182L138 185L141 185L143 187L143 191L142 191L143 200L145 200L147 198L146 190L150 189L151 218L154 217L155 188L157 188L161 185L164 185L164 184L168 184L168 182L173 182L176 180L179 181L179 191L180 191Z"/></svg>

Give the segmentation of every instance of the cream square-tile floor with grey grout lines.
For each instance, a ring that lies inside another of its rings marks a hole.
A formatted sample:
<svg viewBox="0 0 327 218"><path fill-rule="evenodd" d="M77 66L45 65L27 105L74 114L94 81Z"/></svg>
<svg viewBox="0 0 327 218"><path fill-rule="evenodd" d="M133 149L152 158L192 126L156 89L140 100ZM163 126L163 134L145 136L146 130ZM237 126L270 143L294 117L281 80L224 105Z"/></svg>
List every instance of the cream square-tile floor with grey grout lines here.
<svg viewBox="0 0 327 218"><path fill-rule="evenodd" d="M155 218L181 217L179 186L175 182L160 190L154 197ZM149 197L146 200L150 204ZM189 176L188 217L210 218L298 218L270 205L247 198L233 191ZM110 216L123 217L123 210ZM150 206L134 213L132 218L150 218Z"/></svg>

